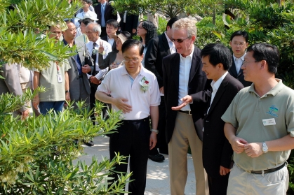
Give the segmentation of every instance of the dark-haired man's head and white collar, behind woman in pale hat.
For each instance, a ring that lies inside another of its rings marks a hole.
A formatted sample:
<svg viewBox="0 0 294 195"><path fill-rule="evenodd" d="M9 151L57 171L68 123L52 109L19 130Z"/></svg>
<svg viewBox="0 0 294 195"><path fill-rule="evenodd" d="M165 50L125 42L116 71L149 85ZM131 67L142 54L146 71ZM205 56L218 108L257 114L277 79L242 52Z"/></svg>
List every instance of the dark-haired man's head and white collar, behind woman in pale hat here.
<svg viewBox="0 0 294 195"><path fill-rule="evenodd" d="M116 31L119 29L119 22L111 19L106 22L106 34L107 36L101 37L102 40L112 45L112 51L116 51L116 43L114 38L116 37Z"/></svg>

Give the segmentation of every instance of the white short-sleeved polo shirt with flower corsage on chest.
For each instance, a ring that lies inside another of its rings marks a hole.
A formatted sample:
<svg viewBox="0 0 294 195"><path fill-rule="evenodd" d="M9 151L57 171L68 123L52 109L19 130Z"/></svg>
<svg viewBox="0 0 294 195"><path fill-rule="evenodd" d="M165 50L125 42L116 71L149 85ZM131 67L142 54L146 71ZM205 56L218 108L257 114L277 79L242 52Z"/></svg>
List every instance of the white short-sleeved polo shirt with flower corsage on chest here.
<svg viewBox="0 0 294 195"><path fill-rule="evenodd" d="M131 82L131 75L126 71L125 66L114 68L107 73L97 91L110 94L113 98L128 99L126 103L132 106L130 113L123 113L123 120L140 120L149 116L150 106L159 106L160 94L156 76L148 71L141 64L138 76ZM147 78L149 87L147 91L142 91L140 81ZM119 111L119 108L112 104L112 110Z"/></svg>

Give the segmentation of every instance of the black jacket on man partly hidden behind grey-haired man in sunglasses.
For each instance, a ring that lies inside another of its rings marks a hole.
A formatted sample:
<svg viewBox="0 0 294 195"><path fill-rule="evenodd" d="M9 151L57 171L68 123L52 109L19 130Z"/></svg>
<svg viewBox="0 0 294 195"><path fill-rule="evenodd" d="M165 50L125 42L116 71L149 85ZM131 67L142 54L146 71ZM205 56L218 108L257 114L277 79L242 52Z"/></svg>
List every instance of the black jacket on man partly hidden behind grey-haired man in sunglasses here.
<svg viewBox="0 0 294 195"><path fill-rule="evenodd" d="M152 38L146 51L145 68L156 75L159 88L163 87L162 59L168 55L171 55L171 50L166 35L163 33Z"/></svg>

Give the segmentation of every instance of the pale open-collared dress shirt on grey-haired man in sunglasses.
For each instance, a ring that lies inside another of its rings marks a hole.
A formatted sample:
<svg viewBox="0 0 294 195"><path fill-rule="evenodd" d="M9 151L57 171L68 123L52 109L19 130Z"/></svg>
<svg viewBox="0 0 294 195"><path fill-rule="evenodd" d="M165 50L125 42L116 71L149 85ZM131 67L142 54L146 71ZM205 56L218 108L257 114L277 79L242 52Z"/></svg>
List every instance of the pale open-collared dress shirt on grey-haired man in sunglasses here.
<svg viewBox="0 0 294 195"><path fill-rule="evenodd" d="M188 85L189 85L189 75L192 65L192 58L194 53L194 45L193 50L187 57L182 57L180 55L180 75L179 75L179 99L178 99L178 106L182 104L183 97L187 96L188 94ZM182 111L191 110L189 103L181 109Z"/></svg>

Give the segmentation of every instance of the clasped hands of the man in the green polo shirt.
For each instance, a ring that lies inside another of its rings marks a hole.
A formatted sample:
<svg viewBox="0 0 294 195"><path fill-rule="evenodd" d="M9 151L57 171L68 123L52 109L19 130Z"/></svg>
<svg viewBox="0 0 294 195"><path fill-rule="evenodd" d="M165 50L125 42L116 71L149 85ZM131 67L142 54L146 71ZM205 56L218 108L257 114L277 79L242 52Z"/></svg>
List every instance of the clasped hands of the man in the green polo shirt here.
<svg viewBox="0 0 294 195"><path fill-rule="evenodd" d="M234 137L230 140L234 152L237 154L242 153L243 151L247 154L248 157L259 157L262 152L262 143L248 143L243 138Z"/></svg>

